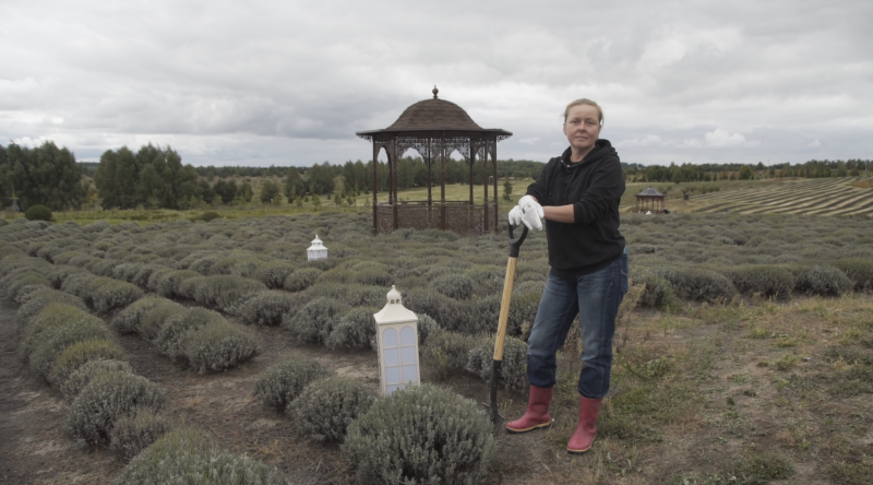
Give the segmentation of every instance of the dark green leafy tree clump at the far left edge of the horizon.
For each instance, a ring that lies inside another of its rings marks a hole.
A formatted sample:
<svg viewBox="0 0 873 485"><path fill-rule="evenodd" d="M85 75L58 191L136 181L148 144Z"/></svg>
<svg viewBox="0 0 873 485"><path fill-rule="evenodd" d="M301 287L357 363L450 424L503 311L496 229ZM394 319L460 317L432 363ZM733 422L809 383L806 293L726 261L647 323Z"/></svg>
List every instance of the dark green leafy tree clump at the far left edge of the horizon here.
<svg viewBox="0 0 873 485"><path fill-rule="evenodd" d="M12 143L0 152L0 186L4 198L14 192L25 210L46 205L60 211L79 208L85 200L82 167L75 155L53 142L34 149ZM2 205L9 202L7 199Z"/></svg>

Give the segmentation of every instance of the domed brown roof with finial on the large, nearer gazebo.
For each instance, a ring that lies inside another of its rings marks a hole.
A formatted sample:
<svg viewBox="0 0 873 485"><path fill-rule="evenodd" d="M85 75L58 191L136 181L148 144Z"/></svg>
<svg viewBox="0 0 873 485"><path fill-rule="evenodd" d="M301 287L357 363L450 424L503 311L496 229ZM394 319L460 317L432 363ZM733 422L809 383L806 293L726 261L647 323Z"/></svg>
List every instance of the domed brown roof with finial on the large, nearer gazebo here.
<svg viewBox="0 0 873 485"><path fill-rule="evenodd" d="M403 111L397 121L394 121L387 128L381 130L358 131L358 137L372 140L374 135L381 133L398 134L403 132L412 132L415 134L422 134L422 131L433 132L453 132L446 134L493 134L498 140L503 140L512 137L512 132L499 128L482 128L467 115L461 106L439 99L436 94L439 90L433 87L433 99L420 100Z"/></svg>

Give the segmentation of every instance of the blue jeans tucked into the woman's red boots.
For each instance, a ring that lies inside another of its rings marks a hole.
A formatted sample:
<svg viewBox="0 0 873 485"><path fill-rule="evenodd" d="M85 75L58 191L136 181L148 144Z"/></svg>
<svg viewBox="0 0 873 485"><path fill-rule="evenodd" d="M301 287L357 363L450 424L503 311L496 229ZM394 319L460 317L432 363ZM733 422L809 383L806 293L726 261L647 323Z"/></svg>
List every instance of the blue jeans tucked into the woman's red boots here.
<svg viewBox="0 0 873 485"><path fill-rule="evenodd" d="M579 394L598 399L609 391L615 317L627 293L627 255L591 274L558 277L550 274L527 341L527 380L538 388L554 387L555 353L564 345L576 315L582 326Z"/></svg>

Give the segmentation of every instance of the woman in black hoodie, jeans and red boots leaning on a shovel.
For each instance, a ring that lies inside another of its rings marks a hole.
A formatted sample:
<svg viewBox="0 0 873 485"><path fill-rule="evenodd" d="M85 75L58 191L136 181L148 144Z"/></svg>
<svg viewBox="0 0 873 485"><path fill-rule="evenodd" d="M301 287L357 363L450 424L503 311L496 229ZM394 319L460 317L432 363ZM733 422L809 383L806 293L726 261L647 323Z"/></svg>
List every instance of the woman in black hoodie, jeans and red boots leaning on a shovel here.
<svg viewBox="0 0 873 485"><path fill-rule="evenodd" d="M528 339L527 412L506 424L510 433L549 427L555 353L576 315L582 326L579 415L567 452L584 453L597 434L600 402L609 391L615 316L627 292L627 256L619 233L624 174L608 140L598 139L603 111L590 99L564 110L570 147L552 158L510 212L510 224L541 229L546 218L551 271Z"/></svg>

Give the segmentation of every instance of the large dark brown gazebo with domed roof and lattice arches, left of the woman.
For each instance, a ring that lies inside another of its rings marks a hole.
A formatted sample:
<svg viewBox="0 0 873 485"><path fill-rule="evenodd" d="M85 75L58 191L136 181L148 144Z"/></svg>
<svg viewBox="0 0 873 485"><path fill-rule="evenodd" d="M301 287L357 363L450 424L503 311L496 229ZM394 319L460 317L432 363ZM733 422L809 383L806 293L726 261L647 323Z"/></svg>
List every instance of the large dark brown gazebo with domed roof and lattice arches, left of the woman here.
<svg viewBox="0 0 873 485"><path fill-rule="evenodd" d="M498 128L479 127L461 106L438 98L436 86L432 93L432 99L409 106L394 125L356 133L373 142L373 234L392 233L405 227L447 229L462 235L497 232L498 142L512 137L512 133ZM397 198L397 163L410 149L421 155L428 167L426 201L399 201ZM375 191L376 159L382 150L388 161L388 200L379 202ZM445 200L445 162L455 151L469 166L468 201ZM485 198L481 205L476 205L473 198L473 167L477 159L482 162ZM434 201L431 193L434 165L435 175L440 178L439 201ZM493 200L489 200L489 176L493 176Z"/></svg>

